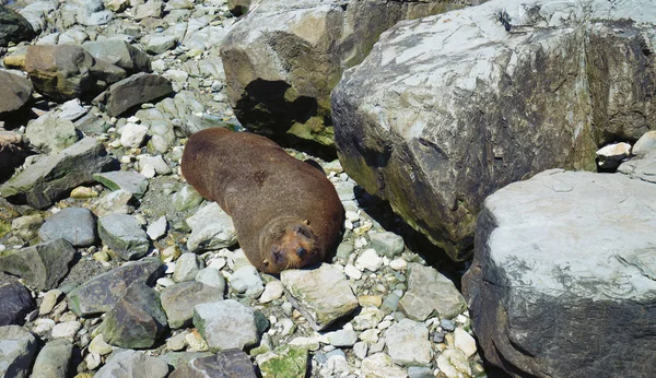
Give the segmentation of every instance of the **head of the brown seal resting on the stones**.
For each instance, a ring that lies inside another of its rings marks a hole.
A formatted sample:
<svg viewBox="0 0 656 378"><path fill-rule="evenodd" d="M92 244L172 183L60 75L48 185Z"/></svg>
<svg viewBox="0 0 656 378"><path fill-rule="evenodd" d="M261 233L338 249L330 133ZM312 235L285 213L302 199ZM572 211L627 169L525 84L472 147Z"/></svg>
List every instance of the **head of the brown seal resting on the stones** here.
<svg viewBox="0 0 656 378"><path fill-rule="evenodd" d="M262 270L267 273L280 273L285 269L319 262L323 257L317 247L317 237L308 221L284 227L272 238L269 247L262 250Z"/></svg>

